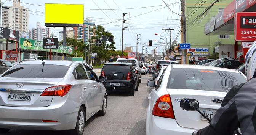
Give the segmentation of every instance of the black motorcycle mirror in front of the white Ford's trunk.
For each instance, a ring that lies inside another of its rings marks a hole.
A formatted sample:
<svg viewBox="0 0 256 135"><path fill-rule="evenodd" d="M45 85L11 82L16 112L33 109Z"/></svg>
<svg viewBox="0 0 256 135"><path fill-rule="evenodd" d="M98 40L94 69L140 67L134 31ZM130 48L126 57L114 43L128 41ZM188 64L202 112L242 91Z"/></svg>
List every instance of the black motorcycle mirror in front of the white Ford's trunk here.
<svg viewBox="0 0 256 135"><path fill-rule="evenodd" d="M198 111L199 102L195 99L181 99L180 106L186 111Z"/></svg>

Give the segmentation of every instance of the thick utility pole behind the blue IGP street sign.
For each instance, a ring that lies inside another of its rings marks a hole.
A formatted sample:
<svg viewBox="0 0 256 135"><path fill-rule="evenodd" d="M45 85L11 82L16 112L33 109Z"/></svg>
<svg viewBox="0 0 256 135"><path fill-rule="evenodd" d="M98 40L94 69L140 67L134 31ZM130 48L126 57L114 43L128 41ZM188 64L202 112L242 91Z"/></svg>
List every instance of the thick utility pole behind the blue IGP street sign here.
<svg viewBox="0 0 256 135"><path fill-rule="evenodd" d="M186 43L185 0L181 0L181 43ZM186 64L186 50L182 49L182 64Z"/></svg>

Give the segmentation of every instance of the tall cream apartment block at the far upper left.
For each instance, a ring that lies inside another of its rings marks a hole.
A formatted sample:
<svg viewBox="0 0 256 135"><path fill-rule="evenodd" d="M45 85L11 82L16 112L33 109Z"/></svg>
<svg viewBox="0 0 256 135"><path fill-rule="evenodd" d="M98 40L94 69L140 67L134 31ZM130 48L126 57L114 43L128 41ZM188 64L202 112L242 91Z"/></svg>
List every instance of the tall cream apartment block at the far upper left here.
<svg viewBox="0 0 256 135"><path fill-rule="evenodd" d="M20 32L28 32L29 9L20 6L20 0L13 0L9 9L2 8L2 27L9 27Z"/></svg>

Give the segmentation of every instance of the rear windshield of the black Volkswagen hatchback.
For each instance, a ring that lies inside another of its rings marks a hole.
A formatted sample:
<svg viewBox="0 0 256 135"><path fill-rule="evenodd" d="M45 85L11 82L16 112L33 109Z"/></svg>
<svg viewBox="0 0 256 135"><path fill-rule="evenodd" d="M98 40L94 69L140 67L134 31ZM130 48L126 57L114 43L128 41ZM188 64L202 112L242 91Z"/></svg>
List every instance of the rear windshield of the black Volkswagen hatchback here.
<svg viewBox="0 0 256 135"><path fill-rule="evenodd" d="M106 64L103 66L102 71L106 72L121 72L127 73L130 71L130 66L122 64Z"/></svg>

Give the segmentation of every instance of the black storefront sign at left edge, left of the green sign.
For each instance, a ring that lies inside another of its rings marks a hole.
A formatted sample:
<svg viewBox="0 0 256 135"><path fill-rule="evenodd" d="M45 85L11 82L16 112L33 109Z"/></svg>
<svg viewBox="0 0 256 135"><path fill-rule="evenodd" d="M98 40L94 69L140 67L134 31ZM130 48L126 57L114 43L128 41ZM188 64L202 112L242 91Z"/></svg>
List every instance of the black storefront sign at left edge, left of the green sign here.
<svg viewBox="0 0 256 135"><path fill-rule="evenodd" d="M19 41L19 31L0 27L0 38Z"/></svg>

